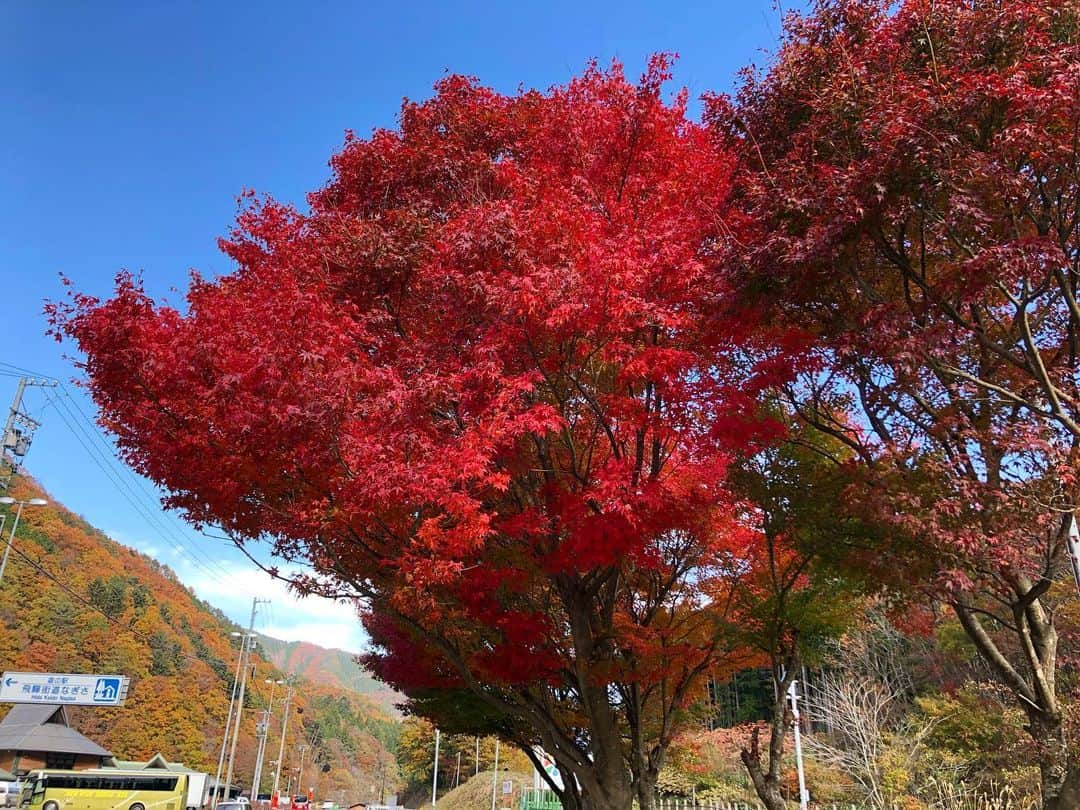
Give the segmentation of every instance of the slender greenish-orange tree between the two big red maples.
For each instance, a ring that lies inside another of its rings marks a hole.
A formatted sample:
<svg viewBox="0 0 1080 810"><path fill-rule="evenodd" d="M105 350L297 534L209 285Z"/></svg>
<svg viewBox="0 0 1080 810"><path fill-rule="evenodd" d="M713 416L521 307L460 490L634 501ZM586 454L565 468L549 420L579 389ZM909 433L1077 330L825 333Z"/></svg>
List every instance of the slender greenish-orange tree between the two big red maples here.
<svg viewBox="0 0 1080 810"><path fill-rule="evenodd" d="M773 408L783 414L782 406ZM768 810L787 807L783 764L794 721L788 690L859 621L861 592L874 588L851 564L854 550L875 544L875 528L842 509L851 451L794 415L783 421L783 442L740 459L730 473L759 529L738 555L745 564L742 576L729 580L735 623L727 632L759 653L772 679L768 741L762 746L755 726L740 752ZM797 688L806 694L805 683Z"/></svg>

